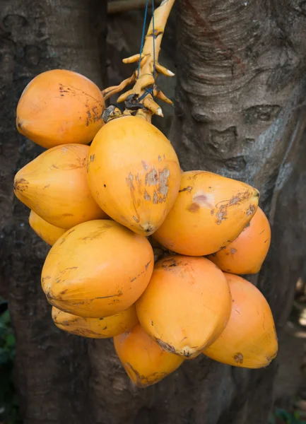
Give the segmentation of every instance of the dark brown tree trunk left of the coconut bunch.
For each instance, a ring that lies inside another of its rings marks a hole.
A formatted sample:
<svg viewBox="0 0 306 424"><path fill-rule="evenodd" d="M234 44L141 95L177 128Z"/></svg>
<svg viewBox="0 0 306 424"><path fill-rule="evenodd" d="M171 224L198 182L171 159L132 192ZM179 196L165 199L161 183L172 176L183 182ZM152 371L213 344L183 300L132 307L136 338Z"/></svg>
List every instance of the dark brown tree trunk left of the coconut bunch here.
<svg viewBox="0 0 306 424"><path fill-rule="evenodd" d="M57 330L40 287L47 246L13 196L13 176L42 148L16 130L26 84L49 69L71 69L102 86L107 4L102 0L2 0L0 4L1 293L16 331L16 388L25 424L90 420L87 342ZM102 88L102 87L101 87Z"/></svg>

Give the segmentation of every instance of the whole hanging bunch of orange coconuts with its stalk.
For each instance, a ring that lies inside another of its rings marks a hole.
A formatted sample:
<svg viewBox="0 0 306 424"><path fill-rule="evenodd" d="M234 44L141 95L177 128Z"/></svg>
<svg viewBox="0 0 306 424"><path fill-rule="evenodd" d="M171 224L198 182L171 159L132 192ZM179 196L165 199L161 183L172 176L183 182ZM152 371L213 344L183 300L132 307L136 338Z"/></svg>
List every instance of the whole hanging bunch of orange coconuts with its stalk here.
<svg viewBox="0 0 306 424"><path fill-rule="evenodd" d="M254 187L203 170L182 172L156 86L160 42L174 0L155 9L131 78L104 91L73 71L41 73L23 91L16 125L47 150L20 169L18 199L51 249L42 290L59 329L113 338L139 387L200 354L266 367L278 341L261 292L238 276L258 273L269 221ZM105 109L119 96L125 109ZM90 146L88 144L91 142Z"/></svg>

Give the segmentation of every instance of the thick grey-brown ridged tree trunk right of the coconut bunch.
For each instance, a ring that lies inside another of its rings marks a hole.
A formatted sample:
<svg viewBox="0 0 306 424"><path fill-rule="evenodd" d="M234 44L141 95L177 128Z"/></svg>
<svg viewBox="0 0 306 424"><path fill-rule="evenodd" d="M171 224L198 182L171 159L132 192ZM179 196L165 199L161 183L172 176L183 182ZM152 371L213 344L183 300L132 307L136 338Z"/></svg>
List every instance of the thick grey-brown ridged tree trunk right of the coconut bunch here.
<svg viewBox="0 0 306 424"><path fill-rule="evenodd" d="M261 272L249 279L266 295L279 329L306 259L305 4L180 0L177 6L170 139L184 170L218 172L259 189L272 243ZM213 402L204 397L204 411L196 407L190 422L266 423L276 364L258 371L209 364L219 375L210 381L205 367L196 369L203 379L189 396L207 391Z"/></svg>

